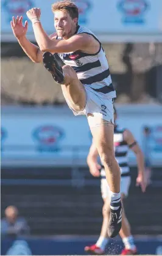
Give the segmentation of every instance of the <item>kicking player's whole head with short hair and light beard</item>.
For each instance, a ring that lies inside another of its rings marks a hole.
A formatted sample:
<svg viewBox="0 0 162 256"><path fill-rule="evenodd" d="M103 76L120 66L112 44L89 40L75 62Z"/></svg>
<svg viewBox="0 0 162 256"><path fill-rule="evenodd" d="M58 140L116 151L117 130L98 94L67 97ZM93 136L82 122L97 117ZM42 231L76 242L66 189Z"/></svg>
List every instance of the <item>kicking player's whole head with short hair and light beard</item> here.
<svg viewBox="0 0 162 256"><path fill-rule="evenodd" d="M58 1L52 4L54 25L59 37L69 38L76 32L79 10L71 0Z"/></svg>

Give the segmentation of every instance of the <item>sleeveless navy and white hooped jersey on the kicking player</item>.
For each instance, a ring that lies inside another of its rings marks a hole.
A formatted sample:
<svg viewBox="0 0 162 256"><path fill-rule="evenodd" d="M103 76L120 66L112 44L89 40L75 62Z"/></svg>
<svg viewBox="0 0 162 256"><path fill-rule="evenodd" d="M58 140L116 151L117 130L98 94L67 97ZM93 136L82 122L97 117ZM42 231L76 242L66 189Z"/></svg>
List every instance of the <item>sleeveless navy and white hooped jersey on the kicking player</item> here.
<svg viewBox="0 0 162 256"><path fill-rule="evenodd" d="M90 34L99 42L93 32L85 27L78 26L76 34L82 33ZM57 39L62 39L62 37L57 37ZM100 48L96 54L77 50L70 53L58 53L58 56L66 65L71 66L76 71L81 83L86 85L94 94L106 99L114 98L116 92L111 81L107 57L100 42L99 44Z"/></svg>

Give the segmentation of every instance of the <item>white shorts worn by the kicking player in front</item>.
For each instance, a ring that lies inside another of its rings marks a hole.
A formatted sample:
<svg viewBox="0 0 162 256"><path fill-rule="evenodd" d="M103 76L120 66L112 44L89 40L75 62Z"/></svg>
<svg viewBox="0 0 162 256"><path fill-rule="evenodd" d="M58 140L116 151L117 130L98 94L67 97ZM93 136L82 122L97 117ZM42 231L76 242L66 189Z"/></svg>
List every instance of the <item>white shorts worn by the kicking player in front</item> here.
<svg viewBox="0 0 162 256"><path fill-rule="evenodd" d="M70 107L69 102L66 102L71 108L72 112L75 116L78 115L88 115L88 113L93 114L94 116L100 117L108 122L112 122L114 124L114 110L113 110L113 98L104 99L99 95L94 94L94 92L90 91L90 89L85 86L86 91L86 105L82 111L76 112Z"/></svg>

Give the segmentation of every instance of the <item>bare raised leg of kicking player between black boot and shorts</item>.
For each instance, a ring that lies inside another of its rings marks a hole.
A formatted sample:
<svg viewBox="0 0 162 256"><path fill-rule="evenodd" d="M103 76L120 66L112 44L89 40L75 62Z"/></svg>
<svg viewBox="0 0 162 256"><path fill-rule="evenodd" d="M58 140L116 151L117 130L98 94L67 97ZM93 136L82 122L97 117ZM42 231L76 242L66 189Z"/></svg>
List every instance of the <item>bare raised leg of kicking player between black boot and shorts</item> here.
<svg viewBox="0 0 162 256"><path fill-rule="evenodd" d="M82 111L86 104L86 92L82 83L77 78L77 73L72 67L63 66L65 85L62 85L63 96L70 107L76 112Z"/></svg>

